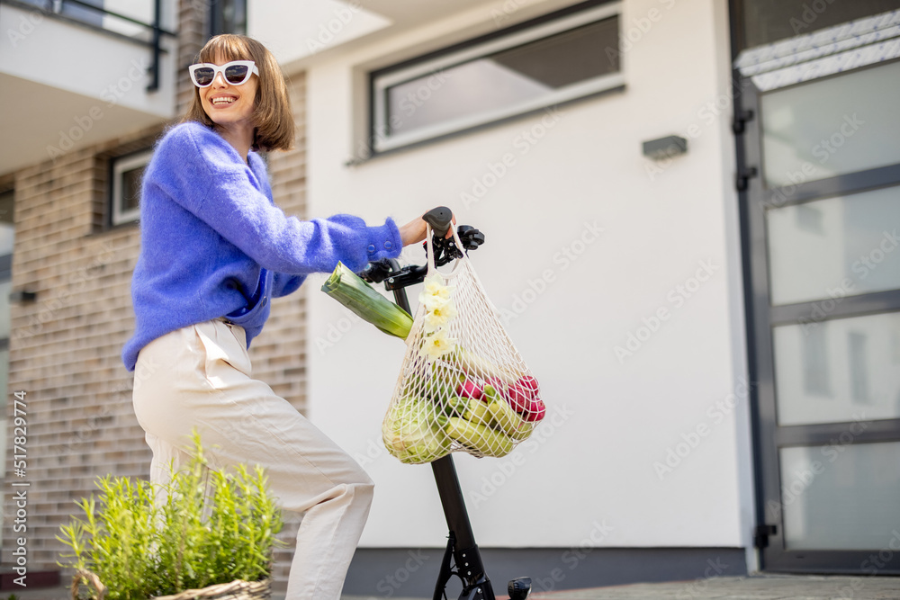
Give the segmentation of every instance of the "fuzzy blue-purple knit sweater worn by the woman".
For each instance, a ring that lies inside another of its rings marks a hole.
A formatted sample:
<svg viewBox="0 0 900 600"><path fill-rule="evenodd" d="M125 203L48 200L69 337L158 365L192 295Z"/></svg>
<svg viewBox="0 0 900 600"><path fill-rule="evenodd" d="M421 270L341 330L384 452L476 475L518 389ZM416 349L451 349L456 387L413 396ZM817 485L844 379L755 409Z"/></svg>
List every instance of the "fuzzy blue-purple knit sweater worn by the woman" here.
<svg viewBox="0 0 900 600"><path fill-rule="evenodd" d="M309 273L400 255L392 219L366 227L335 215L302 221L275 206L266 164L197 122L159 140L144 175L140 255L131 280L135 334L121 358L134 370L141 348L159 336L227 317L247 346L269 316L271 299L297 290Z"/></svg>

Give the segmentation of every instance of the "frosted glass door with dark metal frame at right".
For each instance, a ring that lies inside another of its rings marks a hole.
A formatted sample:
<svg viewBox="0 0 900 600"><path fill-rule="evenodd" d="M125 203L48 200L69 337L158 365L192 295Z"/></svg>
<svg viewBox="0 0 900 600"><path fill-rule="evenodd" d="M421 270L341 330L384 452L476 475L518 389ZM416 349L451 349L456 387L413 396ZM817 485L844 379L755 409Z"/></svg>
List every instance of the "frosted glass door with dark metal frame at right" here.
<svg viewBox="0 0 900 600"><path fill-rule="evenodd" d="M897 574L900 61L746 83L762 568Z"/></svg>

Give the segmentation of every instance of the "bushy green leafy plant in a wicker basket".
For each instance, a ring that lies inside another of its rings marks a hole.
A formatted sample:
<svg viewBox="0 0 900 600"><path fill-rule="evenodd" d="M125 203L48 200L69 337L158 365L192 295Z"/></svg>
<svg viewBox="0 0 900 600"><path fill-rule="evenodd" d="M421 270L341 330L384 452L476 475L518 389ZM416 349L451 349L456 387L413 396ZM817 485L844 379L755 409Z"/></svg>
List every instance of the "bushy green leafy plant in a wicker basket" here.
<svg viewBox="0 0 900 600"><path fill-rule="evenodd" d="M193 460L165 486L98 478L100 497L76 504L84 518L60 527L76 570L73 598L90 600L256 600L271 589L281 511L257 465L208 469L200 436Z"/></svg>

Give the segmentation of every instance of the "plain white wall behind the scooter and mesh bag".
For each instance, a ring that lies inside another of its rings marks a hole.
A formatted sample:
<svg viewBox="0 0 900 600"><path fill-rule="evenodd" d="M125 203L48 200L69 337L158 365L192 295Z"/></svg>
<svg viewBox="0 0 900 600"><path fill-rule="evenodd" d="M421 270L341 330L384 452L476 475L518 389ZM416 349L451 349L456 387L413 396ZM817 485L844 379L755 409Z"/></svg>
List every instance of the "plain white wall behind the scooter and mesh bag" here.
<svg viewBox="0 0 900 600"><path fill-rule="evenodd" d="M626 0L623 35L635 41L623 57L625 92L563 106L557 121L538 114L356 167L345 166L355 151L353 115L365 102L355 67L396 53L398 40L332 53L309 67L311 216L403 221L446 204L461 223L485 232L473 263L491 299L520 309L509 334L541 381L551 416L536 434L540 442L507 458L455 455L482 546L749 542L725 4ZM403 38L412 56L415 37ZM528 131L541 139L523 144ZM688 154L649 173L642 141L673 133L691 138ZM515 165L465 205L461 194L472 193L473 180L507 152ZM588 224L603 232L582 245ZM581 254L569 261L563 248ZM408 254L420 262L418 248ZM702 264L712 265L708 277ZM698 270L708 281L683 304L673 301L679 286L694 289ZM535 284L542 291L531 295L530 282L545 273L553 281ZM446 524L430 469L402 465L381 448L381 419L405 346L365 323L350 325L320 282L304 286L310 415L377 483L362 544L442 545ZM526 296L527 304L517 300ZM659 309L670 318L619 360L615 346ZM329 334L337 341L324 347ZM679 446L694 435L696 447ZM654 462L677 447L686 456L661 478ZM600 535L597 524L611 531Z"/></svg>

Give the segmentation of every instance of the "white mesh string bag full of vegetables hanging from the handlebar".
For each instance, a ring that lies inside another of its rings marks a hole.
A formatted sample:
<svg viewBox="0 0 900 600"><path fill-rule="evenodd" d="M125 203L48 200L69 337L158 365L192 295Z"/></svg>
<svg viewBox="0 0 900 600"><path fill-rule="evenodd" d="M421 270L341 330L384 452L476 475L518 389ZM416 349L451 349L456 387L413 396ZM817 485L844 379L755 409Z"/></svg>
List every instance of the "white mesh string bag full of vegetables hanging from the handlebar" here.
<svg viewBox="0 0 900 600"><path fill-rule="evenodd" d="M526 440L545 416L532 372L518 353L463 256L437 270L428 228L428 275L407 350L384 416L384 446L402 462L449 452L500 457Z"/></svg>

